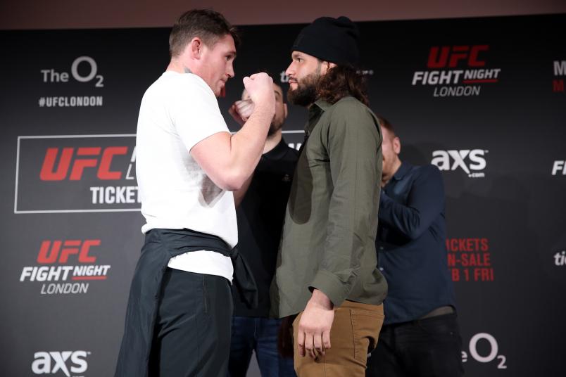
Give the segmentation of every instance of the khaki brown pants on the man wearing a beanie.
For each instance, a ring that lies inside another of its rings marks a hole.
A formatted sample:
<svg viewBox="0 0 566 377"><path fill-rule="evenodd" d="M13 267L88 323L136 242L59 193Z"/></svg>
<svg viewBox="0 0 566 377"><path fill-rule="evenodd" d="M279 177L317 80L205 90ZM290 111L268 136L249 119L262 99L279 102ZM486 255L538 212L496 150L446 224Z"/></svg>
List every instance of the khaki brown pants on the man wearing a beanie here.
<svg viewBox="0 0 566 377"><path fill-rule="evenodd" d="M299 313L293 322L294 363L299 377L356 377L365 376L367 352L377 345L383 324L383 305L368 305L344 301L334 310L330 329L331 348L316 359L298 354L296 343Z"/></svg>

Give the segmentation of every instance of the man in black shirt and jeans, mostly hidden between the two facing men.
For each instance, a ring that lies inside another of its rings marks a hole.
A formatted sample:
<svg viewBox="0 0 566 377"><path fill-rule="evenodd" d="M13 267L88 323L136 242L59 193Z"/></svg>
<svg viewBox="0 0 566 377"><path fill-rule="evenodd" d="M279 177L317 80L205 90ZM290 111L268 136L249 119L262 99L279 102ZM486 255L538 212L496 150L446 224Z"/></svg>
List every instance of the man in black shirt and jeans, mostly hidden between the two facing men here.
<svg viewBox="0 0 566 377"><path fill-rule="evenodd" d="M277 352L277 333L281 320L269 318L269 289L277 249L283 228L285 207L291 189L298 152L287 146L282 138L282 126L287 117L287 104L283 101L281 87L273 84L275 93L275 117L271 123L263 155L256 167L249 187L234 192L239 204L238 250L246 257L256 279L259 300L256 309L244 303L237 288L232 286L234 317L232 317L232 342L229 357L229 376L244 377L251 354L256 351L262 376L296 376L293 359L286 359ZM251 113L253 103L244 91L242 101L230 109L234 119L241 122ZM245 193L245 196L243 195Z"/></svg>

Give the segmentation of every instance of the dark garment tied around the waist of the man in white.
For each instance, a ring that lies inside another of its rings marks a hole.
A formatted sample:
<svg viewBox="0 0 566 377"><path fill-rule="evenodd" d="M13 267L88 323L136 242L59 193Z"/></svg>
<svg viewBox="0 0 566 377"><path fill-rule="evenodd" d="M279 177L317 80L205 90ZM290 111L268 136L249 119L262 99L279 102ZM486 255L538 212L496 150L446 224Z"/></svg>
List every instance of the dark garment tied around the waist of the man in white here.
<svg viewBox="0 0 566 377"><path fill-rule="evenodd" d="M236 248L218 236L190 229L151 229L136 265L126 309L124 336L115 377L149 376L149 357L163 274L172 257L197 250L210 250L232 259L234 286L246 305L258 305L258 289L251 269Z"/></svg>

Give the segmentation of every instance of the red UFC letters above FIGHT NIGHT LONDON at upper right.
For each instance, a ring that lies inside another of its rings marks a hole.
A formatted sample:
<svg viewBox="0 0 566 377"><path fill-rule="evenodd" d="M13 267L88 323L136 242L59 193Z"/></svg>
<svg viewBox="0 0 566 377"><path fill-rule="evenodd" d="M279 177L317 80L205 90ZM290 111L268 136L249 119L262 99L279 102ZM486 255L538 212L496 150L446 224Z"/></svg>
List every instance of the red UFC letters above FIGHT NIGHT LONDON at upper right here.
<svg viewBox="0 0 566 377"><path fill-rule="evenodd" d="M480 51L489 50L489 46L434 46L430 48L428 68L455 68L460 61L467 61L470 67L484 67L485 60L479 60Z"/></svg>

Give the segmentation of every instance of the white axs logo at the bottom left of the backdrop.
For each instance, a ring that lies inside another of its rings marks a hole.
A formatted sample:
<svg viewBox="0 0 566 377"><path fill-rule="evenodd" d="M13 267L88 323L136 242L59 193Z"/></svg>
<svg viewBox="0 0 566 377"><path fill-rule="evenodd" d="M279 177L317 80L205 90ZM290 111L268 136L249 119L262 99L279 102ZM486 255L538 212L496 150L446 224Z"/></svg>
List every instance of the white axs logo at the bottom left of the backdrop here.
<svg viewBox="0 0 566 377"><path fill-rule="evenodd" d="M35 374L55 374L63 372L70 377L73 373L84 373L87 371L87 351L63 351L63 352L35 352L32 362L32 372ZM71 366L68 368L67 361L70 359ZM69 371L70 369L70 371Z"/></svg>

